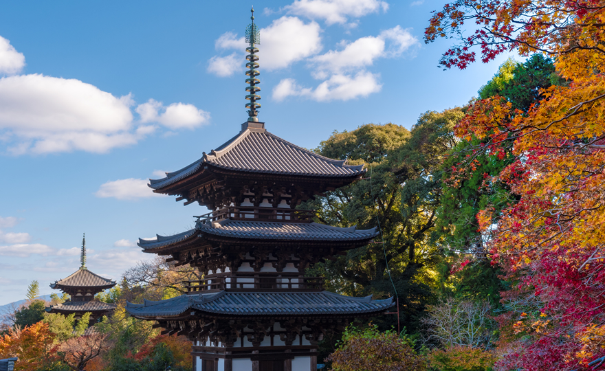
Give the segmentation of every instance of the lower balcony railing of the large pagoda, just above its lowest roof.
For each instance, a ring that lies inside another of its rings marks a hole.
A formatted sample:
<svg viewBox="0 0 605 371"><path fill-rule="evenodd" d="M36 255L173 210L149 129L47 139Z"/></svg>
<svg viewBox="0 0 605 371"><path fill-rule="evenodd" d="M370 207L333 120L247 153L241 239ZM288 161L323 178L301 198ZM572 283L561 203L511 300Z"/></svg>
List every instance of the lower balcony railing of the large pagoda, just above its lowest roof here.
<svg viewBox="0 0 605 371"><path fill-rule="evenodd" d="M318 292L324 290L323 277L305 277L299 273L219 273L202 280L183 281L186 293L229 292Z"/></svg>

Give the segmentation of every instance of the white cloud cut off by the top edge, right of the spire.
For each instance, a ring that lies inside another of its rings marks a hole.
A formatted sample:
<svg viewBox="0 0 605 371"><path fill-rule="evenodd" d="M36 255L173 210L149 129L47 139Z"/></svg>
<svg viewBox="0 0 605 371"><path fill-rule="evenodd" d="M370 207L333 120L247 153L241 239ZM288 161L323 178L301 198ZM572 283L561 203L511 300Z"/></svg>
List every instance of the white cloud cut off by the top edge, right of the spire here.
<svg viewBox="0 0 605 371"><path fill-rule="evenodd" d="M386 12L388 3L380 0L296 0L283 8L289 14L323 19L328 25L347 23L349 18Z"/></svg>

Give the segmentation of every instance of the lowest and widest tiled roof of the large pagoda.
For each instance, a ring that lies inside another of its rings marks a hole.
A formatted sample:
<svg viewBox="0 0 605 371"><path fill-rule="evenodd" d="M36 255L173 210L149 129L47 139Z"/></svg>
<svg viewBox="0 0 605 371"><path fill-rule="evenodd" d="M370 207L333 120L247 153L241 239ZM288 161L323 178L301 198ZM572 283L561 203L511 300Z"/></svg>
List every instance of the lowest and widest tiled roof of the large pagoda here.
<svg viewBox="0 0 605 371"><path fill-rule="evenodd" d="M126 304L135 317L170 317L196 309L223 315L360 315L379 313L393 306L393 298L372 300L328 291L317 293L219 293L181 295L158 302Z"/></svg>

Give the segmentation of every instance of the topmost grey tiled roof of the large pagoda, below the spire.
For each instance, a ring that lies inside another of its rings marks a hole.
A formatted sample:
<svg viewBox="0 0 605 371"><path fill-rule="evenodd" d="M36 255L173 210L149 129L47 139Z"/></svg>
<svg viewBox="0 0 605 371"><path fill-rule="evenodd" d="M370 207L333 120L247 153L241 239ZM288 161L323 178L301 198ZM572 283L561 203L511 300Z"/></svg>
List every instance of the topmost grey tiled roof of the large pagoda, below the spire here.
<svg viewBox="0 0 605 371"><path fill-rule="evenodd" d="M366 172L363 165L351 166L346 160L323 157L269 133L264 127L246 127L210 154L203 153L193 164L168 172L165 178L150 179L148 186L162 190L203 171L207 165L237 172L307 177L355 177Z"/></svg>

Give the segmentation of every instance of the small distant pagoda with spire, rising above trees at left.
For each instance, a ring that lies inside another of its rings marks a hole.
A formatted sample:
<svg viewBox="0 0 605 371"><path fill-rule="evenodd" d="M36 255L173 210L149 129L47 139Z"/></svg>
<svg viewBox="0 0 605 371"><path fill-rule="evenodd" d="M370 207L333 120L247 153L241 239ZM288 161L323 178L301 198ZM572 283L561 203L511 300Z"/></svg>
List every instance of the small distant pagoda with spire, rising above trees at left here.
<svg viewBox="0 0 605 371"><path fill-rule="evenodd" d="M50 287L69 294L67 302L56 304L46 308L49 313L61 313L62 315L75 314L76 319L90 312L90 322L97 322L103 315L108 315L115 309L115 304L108 304L96 300L94 297L103 290L115 286L115 281L102 278L89 271L86 267L86 238L82 238L82 252L80 254L80 269L75 273L55 281Z"/></svg>

